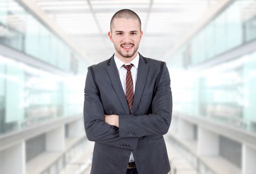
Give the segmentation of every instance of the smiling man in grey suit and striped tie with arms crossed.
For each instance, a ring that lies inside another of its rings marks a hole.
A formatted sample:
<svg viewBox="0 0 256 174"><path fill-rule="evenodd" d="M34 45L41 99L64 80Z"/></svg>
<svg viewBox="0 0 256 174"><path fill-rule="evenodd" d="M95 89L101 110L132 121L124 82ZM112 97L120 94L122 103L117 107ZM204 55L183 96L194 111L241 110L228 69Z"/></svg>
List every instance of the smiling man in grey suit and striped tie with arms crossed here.
<svg viewBox="0 0 256 174"><path fill-rule="evenodd" d="M111 19L115 54L88 68L84 124L94 141L91 174L167 174L163 134L172 114L166 64L137 52L138 15L122 9Z"/></svg>

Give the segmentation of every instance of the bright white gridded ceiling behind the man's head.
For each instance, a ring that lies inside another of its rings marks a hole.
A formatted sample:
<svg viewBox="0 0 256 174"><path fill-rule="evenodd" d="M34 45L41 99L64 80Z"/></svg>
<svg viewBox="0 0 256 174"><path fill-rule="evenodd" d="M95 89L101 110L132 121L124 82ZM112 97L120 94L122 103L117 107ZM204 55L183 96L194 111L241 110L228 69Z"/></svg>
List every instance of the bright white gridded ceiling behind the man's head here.
<svg viewBox="0 0 256 174"><path fill-rule="evenodd" d="M91 64L115 52L110 20L120 9L135 11L143 36L138 51L162 60L218 0L34 0L77 45Z"/></svg>

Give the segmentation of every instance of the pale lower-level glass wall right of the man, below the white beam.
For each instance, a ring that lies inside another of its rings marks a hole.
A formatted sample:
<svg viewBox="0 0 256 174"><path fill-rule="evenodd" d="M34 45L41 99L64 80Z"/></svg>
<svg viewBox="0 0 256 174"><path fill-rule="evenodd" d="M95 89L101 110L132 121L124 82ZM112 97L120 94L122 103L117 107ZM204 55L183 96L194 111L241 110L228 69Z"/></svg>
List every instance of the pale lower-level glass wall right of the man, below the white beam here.
<svg viewBox="0 0 256 174"><path fill-rule="evenodd" d="M174 110L256 133L256 52L196 72L169 69Z"/></svg>

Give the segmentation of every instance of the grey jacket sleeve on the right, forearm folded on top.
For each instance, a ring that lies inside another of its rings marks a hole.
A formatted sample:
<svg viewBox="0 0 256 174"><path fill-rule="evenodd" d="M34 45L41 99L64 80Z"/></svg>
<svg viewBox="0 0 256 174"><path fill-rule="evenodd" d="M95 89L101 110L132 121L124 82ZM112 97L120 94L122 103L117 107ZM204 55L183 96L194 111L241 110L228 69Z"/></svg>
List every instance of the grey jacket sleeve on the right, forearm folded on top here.
<svg viewBox="0 0 256 174"><path fill-rule="evenodd" d="M166 63L152 100L152 114L119 115L120 137L164 135L168 132L172 115L172 93Z"/></svg>

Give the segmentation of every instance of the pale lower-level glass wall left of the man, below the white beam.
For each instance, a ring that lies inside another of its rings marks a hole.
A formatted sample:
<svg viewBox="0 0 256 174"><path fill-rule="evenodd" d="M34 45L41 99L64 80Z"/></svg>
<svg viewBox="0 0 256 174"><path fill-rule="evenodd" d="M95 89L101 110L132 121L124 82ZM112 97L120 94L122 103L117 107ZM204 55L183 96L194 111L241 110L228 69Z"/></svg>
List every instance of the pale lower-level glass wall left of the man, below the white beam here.
<svg viewBox="0 0 256 174"><path fill-rule="evenodd" d="M0 56L0 134L82 114L84 83Z"/></svg>

